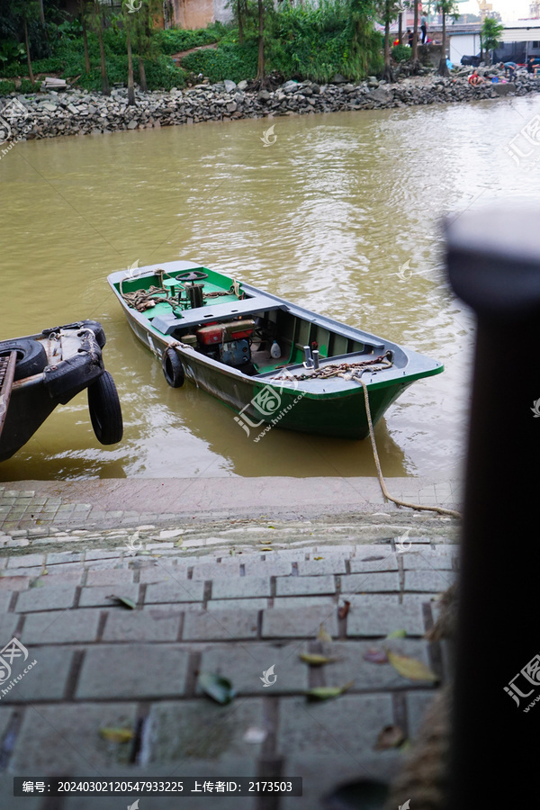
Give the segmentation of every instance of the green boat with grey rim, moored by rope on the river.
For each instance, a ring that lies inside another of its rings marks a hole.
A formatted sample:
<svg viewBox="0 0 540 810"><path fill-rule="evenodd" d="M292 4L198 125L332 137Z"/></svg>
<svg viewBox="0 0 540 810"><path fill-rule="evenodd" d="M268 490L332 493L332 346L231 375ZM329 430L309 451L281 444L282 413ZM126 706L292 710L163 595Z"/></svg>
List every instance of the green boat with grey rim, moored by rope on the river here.
<svg viewBox="0 0 540 810"><path fill-rule="evenodd" d="M443 365L193 262L108 277L167 383L187 379L236 411L256 439L266 426L323 436L369 435L406 388Z"/></svg>

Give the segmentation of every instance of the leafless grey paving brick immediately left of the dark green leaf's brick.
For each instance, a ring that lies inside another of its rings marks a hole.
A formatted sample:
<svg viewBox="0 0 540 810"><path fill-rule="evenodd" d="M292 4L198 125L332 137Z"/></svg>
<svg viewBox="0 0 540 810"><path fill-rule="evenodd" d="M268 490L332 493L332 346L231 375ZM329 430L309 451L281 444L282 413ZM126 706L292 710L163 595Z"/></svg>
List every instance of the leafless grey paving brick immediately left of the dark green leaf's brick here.
<svg viewBox="0 0 540 810"><path fill-rule="evenodd" d="M178 698L184 694L188 659L177 644L149 649L148 644L91 647L85 653L76 698Z"/></svg>

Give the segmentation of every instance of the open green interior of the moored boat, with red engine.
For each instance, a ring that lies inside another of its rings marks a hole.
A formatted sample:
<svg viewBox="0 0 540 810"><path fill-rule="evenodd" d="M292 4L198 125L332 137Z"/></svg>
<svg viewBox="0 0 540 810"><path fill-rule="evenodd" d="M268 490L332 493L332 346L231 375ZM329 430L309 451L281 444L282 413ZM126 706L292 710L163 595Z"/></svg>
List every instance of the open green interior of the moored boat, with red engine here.
<svg viewBox="0 0 540 810"><path fill-rule="evenodd" d="M158 332L245 374L271 375L306 362L317 368L330 357L351 362L386 348L376 338L367 343L347 329L329 329L315 313L302 317L285 302L205 267L124 278L115 287Z"/></svg>

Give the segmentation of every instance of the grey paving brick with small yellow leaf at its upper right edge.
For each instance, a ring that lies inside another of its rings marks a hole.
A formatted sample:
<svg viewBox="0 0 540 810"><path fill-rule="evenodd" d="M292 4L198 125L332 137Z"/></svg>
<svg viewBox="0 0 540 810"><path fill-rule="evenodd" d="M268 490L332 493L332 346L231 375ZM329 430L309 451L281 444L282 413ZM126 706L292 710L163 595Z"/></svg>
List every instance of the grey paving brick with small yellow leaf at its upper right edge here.
<svg viewBox="0 0 540 810"><path fill-rule="evenodd" d="M14 773L90 775L95 768L126 763L130 745L103 740L99 730L134 728L136 713L135 703L40 706L39 712L27 707L10 765Z"/></svg>

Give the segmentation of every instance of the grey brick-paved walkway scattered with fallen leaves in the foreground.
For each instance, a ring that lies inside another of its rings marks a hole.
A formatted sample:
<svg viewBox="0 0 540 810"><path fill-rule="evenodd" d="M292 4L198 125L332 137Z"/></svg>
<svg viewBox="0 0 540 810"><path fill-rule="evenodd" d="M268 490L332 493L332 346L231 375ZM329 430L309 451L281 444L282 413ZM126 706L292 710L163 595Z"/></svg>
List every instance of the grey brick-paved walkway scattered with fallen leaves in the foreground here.
<svg viewBox="0 0 540 810"><path fill-rule="evenodd" d="M4 492L11 497L36 498ZM15 799L14 775L304 780L298 798L182 800L199 810L316 810L344 780L390 778L403 753L375 750L377 736L399 725L414 738L434 687L364 656L403 629L405 638L387 644L446 680L445 651L422 636L436 617L433 599L455 577L456 529L447 518L374 509L363 520L189 518L106 531L12 520L0 536L1 645L18 639L36 663L5 693L0 685L0 805L109 810L135 801ZM331 644L317 640L320 625ZM325 648L336 662L299 657ZM14 661L8 684L22 667ZM265 688L270 667L276 680ZM199 672L229 678L238 696L212 702ZM305 697L349 681L338 698ZM100 729L110 726L130 730L130 740L104 740ZM178 806L178 798L139 804Z"/></svg>

